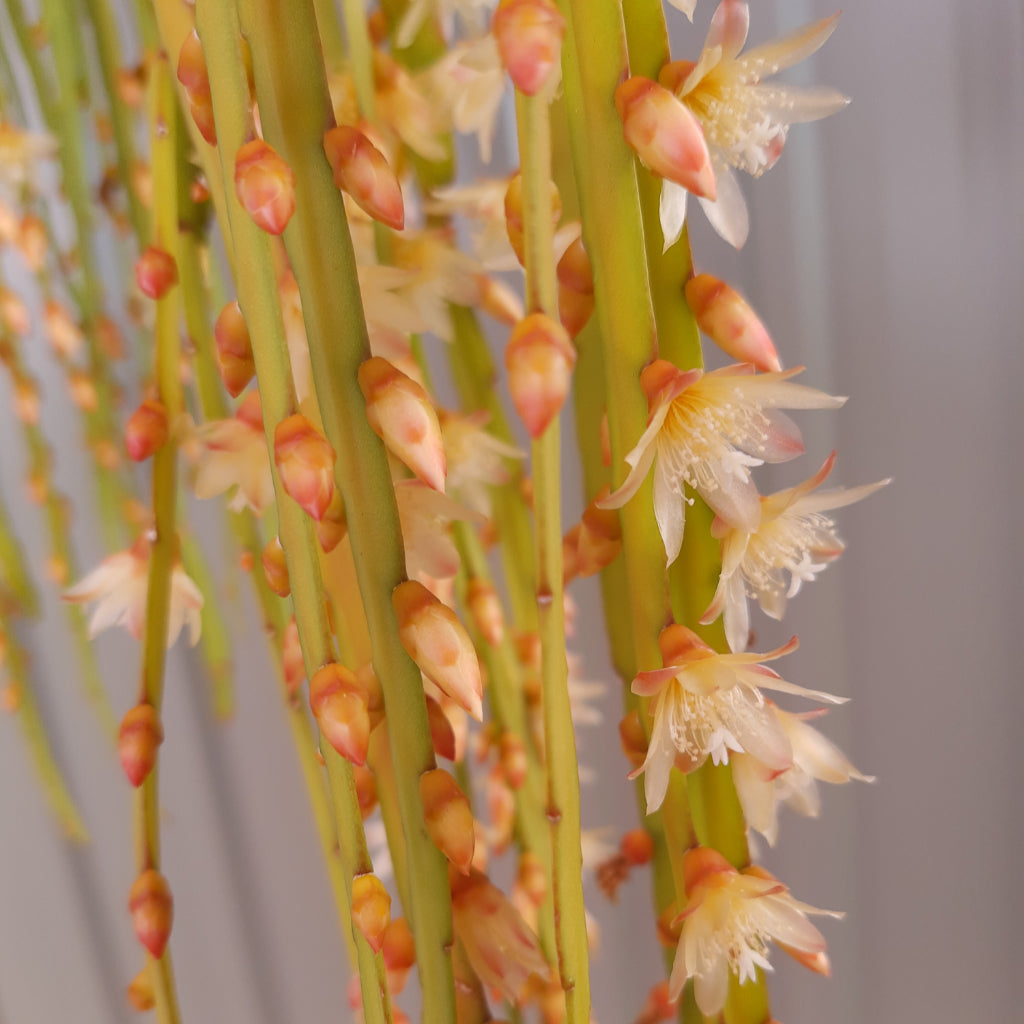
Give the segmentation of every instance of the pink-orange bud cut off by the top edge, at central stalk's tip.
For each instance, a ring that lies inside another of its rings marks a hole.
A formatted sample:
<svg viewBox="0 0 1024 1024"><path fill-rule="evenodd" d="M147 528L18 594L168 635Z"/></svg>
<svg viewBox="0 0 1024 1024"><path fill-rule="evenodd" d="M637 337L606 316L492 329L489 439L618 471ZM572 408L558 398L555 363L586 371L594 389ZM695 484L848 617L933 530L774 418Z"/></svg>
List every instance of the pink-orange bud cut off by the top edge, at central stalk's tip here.
<svg viewBox="0 0 1024 1024"><path fill-rule="evenodd" d="M515 87L535 96L559 66L565 18L551 0L501 0L490 31Z"/></svg>

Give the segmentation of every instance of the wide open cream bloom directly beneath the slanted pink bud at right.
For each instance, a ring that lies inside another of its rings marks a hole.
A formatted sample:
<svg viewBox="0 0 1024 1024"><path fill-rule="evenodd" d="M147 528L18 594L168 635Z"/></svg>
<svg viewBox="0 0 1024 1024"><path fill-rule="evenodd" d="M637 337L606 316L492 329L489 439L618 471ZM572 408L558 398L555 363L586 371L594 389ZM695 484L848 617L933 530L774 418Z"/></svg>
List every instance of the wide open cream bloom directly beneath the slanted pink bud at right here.
<svg viewBox="0 0 1024 1024"><path fill-rule="evenodd" d="M626 457L629 475L598 507L622 508L653 466L654 515L670 565L683 543L684 484L724 521L756 530L761 503L751 467L804 451L799 428L777 410L836 409L846 401L791 383L801 370L755 375L740 364L684 373L665 359L652 362L640 377L650 409L647 429Z"/></svg>

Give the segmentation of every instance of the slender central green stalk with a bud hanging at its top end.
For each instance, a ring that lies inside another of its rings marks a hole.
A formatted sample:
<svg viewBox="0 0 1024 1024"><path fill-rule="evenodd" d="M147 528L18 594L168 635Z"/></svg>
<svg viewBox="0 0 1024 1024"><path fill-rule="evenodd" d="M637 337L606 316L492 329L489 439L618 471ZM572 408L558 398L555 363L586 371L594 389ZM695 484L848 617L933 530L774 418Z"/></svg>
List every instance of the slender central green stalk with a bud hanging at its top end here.
<svg viewBox="0 0 1024 1024"><path fill-rule="evenodd" d="M522 174L526 308L529 312L543 312L557 323L548 99L543 94L527 97L516 90L516 122ZM586 1024L590 1020L590 970L580 845L580 766L565 657L559 416L534 440L531 449L555 944L566 1020L568 1024Z"/></svg>

